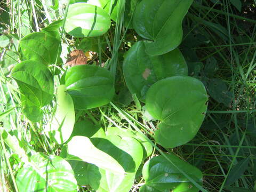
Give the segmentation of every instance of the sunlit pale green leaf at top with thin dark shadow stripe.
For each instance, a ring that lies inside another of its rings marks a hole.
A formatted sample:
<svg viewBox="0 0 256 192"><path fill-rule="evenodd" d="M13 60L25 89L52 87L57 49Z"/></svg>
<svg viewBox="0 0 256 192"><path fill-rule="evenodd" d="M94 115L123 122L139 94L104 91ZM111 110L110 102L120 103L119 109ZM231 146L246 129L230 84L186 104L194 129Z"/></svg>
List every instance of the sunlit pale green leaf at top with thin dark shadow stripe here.
<svg viewBox="0 0 256 192"><path fill-rule="evenodd" d="M87 3L69 5L65 31L75 37L94 37L107 32L110 27L108 13Z"/></svg>

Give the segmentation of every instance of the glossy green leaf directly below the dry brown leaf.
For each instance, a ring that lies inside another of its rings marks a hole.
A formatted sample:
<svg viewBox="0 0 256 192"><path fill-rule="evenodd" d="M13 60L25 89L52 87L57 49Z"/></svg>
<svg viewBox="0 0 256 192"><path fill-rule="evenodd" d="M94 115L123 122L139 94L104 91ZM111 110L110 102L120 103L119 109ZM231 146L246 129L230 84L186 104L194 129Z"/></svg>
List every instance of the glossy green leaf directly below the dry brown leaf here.
<svg viewBox="0 0 256 192"><path fill-rule="evenodd" d="M65 84L76 109L91 109L109 103L115 94L114 78L101 67L80 65L67 70Z"/></svg>

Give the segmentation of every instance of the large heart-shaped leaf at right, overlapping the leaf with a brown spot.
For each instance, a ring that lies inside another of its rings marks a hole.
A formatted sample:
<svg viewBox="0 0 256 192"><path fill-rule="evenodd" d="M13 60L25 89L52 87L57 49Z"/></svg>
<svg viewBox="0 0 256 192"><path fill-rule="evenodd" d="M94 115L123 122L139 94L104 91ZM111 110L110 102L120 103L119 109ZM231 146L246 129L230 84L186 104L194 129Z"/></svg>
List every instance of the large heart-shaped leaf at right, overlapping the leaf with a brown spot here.
<svg viewBox="0 0 256 192"><path fill-rule="evenodd" d="M194 77L168 77L152 85L146 108L162 121L155 132L156 142L172 148L193 139L204 120L207 100L203 83Z"/></svg>

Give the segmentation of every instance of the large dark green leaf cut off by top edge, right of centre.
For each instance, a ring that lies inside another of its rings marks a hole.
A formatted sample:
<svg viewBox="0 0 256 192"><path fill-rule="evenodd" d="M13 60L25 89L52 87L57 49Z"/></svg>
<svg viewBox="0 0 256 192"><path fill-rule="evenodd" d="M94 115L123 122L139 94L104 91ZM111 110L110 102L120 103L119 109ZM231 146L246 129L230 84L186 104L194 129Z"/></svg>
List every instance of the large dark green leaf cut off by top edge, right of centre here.
<svg viewBox="0 0 256 192"><path fill-rule="evenodd" d="M145 42L146 52L162 55L174 50L182 40L182 20L193 0L142 0L137 5L133 26Z"/></svg>

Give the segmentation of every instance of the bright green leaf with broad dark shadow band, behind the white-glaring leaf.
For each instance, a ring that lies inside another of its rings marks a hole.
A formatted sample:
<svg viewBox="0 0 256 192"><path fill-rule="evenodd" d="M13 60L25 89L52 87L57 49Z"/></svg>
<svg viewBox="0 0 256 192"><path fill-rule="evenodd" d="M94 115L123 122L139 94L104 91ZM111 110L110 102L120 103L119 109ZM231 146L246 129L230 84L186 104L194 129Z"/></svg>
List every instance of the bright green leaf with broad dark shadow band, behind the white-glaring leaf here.
<svg viewBox="0 0 256 192"><path fill-rule="evenodd" d="M131 137L118 137L111 135L106 139L92 138L94 145L105 153L108 153L111 157L115 158L119 164L125 170L125 175L116 174L113 172L107 172L104 169L98 170L100 177L96 174L87 174L90 179L89 185L98 192L124 192L130 191L142 158L143 149L139 141ZM97 169L96 167L90 167L89 170Z"/></svg>

